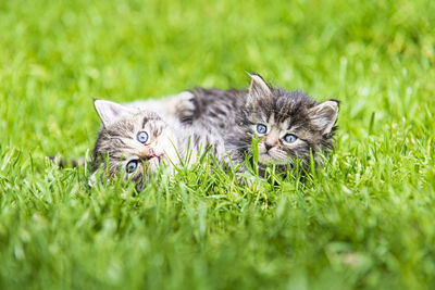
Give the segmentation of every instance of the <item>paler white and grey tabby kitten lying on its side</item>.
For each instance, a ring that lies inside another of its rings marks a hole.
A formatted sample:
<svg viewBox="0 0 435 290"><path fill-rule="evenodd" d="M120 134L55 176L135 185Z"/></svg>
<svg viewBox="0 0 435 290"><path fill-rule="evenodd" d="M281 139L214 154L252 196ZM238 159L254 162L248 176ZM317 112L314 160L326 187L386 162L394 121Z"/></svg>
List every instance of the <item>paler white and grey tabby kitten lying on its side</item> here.
<svg viewBox="0 0 435 290"><path fill-rule="evenodd" d="M140 191L147 174L156 173L162 163L173 168L173 165L194 164L207 151L217 160L225 153L219 136L186 127L174 116L137 109L144 106L95 100L103 126L94 148L91 185L96 182L97 171L107 168L108 178L121 174Z"/></svg>

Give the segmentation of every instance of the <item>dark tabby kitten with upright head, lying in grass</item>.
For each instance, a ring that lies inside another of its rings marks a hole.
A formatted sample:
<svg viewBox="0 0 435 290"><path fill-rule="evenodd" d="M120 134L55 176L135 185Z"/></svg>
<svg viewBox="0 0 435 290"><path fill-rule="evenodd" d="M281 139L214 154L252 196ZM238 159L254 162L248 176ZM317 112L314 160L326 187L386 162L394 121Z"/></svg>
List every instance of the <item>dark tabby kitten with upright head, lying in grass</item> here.
<svg viewBox="0 0 435 290"><path fill-rule="evenodd" d="M291 168L297 159L308 167L310 154L320 164L321 153L333 148L336 100L315 102L306 93L273 88L260 75L251 75L247 91L197 88L191 93L195 109L184 121L223 136L236 163L250 153L252 138L261 138L260 169L275 164L281 173Z"/></svg>

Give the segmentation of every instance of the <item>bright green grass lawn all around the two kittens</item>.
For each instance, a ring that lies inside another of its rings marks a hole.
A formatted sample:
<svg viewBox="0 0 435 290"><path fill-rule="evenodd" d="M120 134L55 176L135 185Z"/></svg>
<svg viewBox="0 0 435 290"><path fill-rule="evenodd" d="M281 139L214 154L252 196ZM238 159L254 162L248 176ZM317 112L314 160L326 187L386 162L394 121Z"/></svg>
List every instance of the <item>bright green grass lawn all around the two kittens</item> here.
<svg viewBox="0 0 435 290"><path fill-rule="evenodd" d="M0 1L1 289L435 287L434 1ZM92 98L245 73L341 100L312 180L87 188Z"/></svg>

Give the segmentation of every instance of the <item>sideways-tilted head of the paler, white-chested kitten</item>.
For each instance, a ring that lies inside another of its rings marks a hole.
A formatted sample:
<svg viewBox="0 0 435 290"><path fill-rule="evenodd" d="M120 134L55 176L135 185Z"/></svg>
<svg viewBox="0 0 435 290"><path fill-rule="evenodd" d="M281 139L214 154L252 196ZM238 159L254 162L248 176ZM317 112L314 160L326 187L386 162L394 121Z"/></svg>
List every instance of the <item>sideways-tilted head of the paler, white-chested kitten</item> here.
<svg viewBox="0 0 435 290"><path fill-rule="evenodd" d="M172 130L153 112L105 100L94 104L103 125L94 148L94 171L108 169L109 178L120 174L136 182L140 191L145 174L157 172L159 164L167 163L169 155L173 155Z"/></svg>

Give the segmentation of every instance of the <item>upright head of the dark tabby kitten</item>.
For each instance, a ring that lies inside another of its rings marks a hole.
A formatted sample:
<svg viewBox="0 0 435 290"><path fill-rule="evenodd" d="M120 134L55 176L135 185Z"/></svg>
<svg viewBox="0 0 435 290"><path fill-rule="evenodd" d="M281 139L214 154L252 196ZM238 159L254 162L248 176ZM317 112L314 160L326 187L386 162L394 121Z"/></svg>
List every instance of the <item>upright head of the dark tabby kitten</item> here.
<svg viewBox="0 0 435 290"><path fill-rule="evenodd" d="M273 88L259 75L251 77L243 114L244 138L261 138L260 164L293 166L295 159L301 159L307 166L310 152L321 162L319 153L333 148L338 101L318 103L306 93Z"/></svg>

